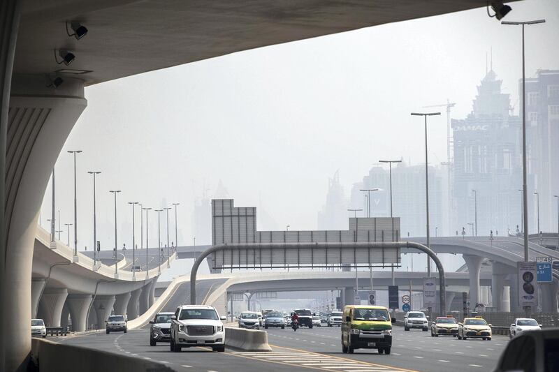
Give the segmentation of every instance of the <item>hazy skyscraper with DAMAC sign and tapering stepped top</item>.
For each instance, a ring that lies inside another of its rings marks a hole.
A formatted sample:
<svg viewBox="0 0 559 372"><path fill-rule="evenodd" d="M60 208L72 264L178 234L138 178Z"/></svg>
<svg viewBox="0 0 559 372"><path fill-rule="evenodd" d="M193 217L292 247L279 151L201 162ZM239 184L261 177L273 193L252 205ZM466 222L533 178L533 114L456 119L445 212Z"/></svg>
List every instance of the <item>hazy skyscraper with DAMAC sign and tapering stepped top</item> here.
<svg viewBox="0 0 559 372"><path fill-rule="evenodd" d="M490 230L505 235L521 225L521 120L511 115L509 94L501 91L502 80L489 70L477 87L472 112L465 119L452 119L454 230L475 223L477 234ZM529 190L530 191L530 190Z"/></svg>

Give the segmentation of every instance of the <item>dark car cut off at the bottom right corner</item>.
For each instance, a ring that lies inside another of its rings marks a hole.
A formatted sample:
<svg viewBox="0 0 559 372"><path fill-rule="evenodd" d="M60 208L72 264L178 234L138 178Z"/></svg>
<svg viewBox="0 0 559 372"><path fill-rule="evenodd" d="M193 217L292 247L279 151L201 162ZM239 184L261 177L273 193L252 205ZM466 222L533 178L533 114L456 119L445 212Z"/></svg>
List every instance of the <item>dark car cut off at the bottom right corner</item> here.
<svg viewBox="0 0 559 372"><path fill-rule="evenodd" d="M559 328L523 332L502 352L494 372L559 371Z"/></svg>

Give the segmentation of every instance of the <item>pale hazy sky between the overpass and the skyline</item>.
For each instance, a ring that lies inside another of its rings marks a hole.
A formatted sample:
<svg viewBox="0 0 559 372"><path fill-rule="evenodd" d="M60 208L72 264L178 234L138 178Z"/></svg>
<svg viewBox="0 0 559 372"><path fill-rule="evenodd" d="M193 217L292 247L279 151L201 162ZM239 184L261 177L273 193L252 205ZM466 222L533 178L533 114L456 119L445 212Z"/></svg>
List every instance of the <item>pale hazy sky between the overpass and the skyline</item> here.
<svg viewBox="0 0 559 372"><path fill-rule="evenodd" d="M526 28L527 75L559 68L559 1L511 6L506 20L547 21ZM180 202L179 243L191 244L194 200L204 189L212 197L220 179L237 206L262 205L275 219L259 229L316 229L328 177L336 170L349 195L379 158L423 161L423 122L409 112L449 98L456 102L451 116L465 117L491 48L493 70L518 112L521 29L502 26L485 8L263 47L88 87L88 107L56 165L61 223L73 223L73 163L66 151L81 149L80 249L93 241L87 170L103 172L97 183L102 248L114 241L108 192L114 188L122 190L119 246L131 244L130 201L154 209ZM446 116L430 119L433 163L446 160L445 136ZM50 218L50 193L49 186L43 226ZM156 235L152 212L150 237Z"/></svg>

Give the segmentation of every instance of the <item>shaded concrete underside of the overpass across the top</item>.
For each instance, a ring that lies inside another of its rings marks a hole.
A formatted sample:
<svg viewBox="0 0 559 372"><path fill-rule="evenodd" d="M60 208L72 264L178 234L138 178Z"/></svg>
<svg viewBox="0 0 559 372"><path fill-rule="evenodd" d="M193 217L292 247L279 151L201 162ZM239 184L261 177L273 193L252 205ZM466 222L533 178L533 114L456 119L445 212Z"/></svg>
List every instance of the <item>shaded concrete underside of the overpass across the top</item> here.
<svg viewBox="0 0 559 372"><path fill-rule="evenodd" d="M363 27L486 6L486 0L29 0L17 38L14 73L54 73L54 50L91 71L86 85ZM81 40L66 21L82 22ZM496 22L489 20L487 22ZM71 30L70 30L71 31ZM61 74L64 76L64 74Z"/></svg>

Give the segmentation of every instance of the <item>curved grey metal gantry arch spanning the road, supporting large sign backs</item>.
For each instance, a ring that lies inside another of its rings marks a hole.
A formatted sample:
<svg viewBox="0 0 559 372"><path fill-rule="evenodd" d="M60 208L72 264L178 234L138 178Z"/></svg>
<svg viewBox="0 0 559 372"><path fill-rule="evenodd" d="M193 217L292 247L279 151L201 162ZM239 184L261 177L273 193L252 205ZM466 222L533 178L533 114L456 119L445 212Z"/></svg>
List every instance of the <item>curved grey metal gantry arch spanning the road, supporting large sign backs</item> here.
<svg viewBox="0 0 559 372"><path fill-rule="evenodd" d="M191 304L196 305L196 275L198 274L198 267L201 262L208 258L209 255L215 253L215 257L222 257L222 265L229 264L231 269L240 268L244 269L245 266L242 265L242 254L245 255L245 262L248 262L252 255L254 263L256 263L256 252L268 251L268 256L266 256L266 262L270 263L269 267L281 267L279 265L286 265L288 262L289 267L313 267L315 255L314 253L319 252L319 250L324 250L324 254L317 255L316 260L324 260L331 257L329 263L331 265L351 265L358 267L359 264L363 265L369 260L369 265L373 262L385 262L386 259L389 260L389 265L392 262L400 262L400 248L415 248L423 253L427 253L429 257L437 265L439 271L439 295L440 295L440 313L444 313L444 309L447 308L446 304L446 293L445 293L445 278L444 278L444 268L442 263L430 248L424 246L423 244L415 243L413 241L394 241L394 242L349 242L349 243L245 243L245 244L219 244L216 246L211 246L210 248L203 251L192 267L190 273L190 301ZM333 251L335 255L329 255L328 252ZM294 258L288 258L287 255L298 254L298 257L303 255L306 259L303 265L299 266L298 261ZM222 253L221 255L218 253ZM339 255L338 255L339 253ZM349 255L348 255L349 253ZM353 255L353 260L351 261L351 254ZM262 255L260 255L261 257ZM339 260L335 260L338 258ZM345 257L345 259L344 259ZM310 258L310 264L307 262ZM279 261L279 262L278 262ZM237 265L234 265L234 264ZM324 261L317 262L316 267L324 265ZM250 265L249 267L252 267Z"/></svg>

